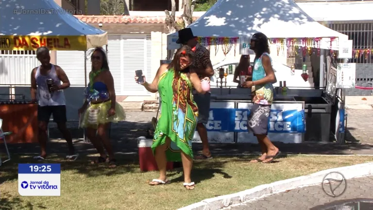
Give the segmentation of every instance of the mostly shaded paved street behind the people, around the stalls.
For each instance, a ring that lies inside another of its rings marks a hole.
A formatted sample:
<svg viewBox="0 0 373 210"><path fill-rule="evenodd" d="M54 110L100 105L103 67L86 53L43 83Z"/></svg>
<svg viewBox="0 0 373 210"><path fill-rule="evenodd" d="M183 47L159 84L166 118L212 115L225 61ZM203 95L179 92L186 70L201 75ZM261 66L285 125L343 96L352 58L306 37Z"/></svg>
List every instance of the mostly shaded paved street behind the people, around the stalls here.
<svg viewBox="0 0 373 210"><path fill-rule="evenodd" d="M114 123L111 128L111 140L118 153L137 153L136 138L146 135L146 130L151 128L150 120L156 112L128 112L125 122ZM373 124L369 123L373 116L373 110L348 110L348 132L345 145L336 143L302 143L284 144L274 142L280 148L283 155L286 154L325 154L325 155L373 155ZM78 129L78 123L68 123L68 128L74 138L83 138L82 129ZM51 139L61 138L54 123L51 123ZM64 140L53 141L49 144L49 153L65 153L67 151ZM92 145L77 141L75 143L79 153L93 153ZM193 150L201 151L202 145L193 144ZM9 144L10 151L15 153L38 153L39 147L34 144ZM260 151L257 144L221 144L210 145L213 155L256 154ZM1 151L0 151L1 152Z"/></svg>

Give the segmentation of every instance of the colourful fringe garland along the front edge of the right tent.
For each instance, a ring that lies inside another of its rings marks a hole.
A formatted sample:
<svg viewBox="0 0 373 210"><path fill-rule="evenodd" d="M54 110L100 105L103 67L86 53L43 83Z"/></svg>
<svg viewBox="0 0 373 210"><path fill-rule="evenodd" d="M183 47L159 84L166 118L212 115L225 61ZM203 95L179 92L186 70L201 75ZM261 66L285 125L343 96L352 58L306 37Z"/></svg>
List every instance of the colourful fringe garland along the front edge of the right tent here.
<svg viewBox="0 0 373 210"><path fill-rule="evenodd" d="M308 53L311 55L312 53L318 53L320 54L320 46L321 46L321 40L322 38L326 37L316 37L316 38L270 38L271 44L277 45L277 55L279 54L281 49L284 49L285 46L288 48L294 48L298 46L300 50L304 54L308 51ZM333 43L337 37L327 37L330 38L330 48L334 47ZM217 45L221 46L221 50L223 51L224 55L228 54L232 47L234 47L235 50L235 56L236 56L236 47L237 43L239 43L239 37L197 37L197 41L205 46L208 50L211 49L211 45L215 46L215 55L219 52L219 47ZM312 49L311 49L312 48ZM297 52L297 51L296 51ZM331 53L333 53L333 50L331 50Z"/></svg>

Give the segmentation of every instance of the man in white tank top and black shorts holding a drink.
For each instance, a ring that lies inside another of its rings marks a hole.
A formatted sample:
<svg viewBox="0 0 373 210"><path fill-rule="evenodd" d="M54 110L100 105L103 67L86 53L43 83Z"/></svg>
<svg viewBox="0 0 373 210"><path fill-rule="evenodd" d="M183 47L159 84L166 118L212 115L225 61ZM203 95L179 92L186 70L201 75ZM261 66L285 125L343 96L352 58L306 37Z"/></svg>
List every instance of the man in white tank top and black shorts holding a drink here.
<svg viewBox="0 0 373 210"><path fill-rule="evenodd" d="M63 89L70 87L68 76L59 66L50 63L51 56L49 49L40 47L36 50L36 57L41 65L33 69L31 73L31 98L33 101L38 99L37 120L39 129L40 156L34 157L38 160L46 158L47 147L47 126L53 115L53 121L57 123L58 129L68 142L69 159L78 157L74 152L71 134L66 127L66 101ZM52 80L53 84L49 88L47 80ZM61 84L62 82L62 84Z"/></svg>

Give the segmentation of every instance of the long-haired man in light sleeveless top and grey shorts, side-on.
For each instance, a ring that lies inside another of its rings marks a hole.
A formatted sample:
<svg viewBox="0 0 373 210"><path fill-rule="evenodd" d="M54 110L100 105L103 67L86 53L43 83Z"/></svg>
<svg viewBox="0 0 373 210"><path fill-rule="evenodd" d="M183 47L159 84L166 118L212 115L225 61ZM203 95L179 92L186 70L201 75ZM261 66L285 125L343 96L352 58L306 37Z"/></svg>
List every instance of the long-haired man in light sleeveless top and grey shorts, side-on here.
<svg viewBox="0 0 373 210"><path fill-rule="evenodd" d="M256 136L262 151L262 155L251 162L270 163L280 154L280 151L267 136L273 102L272 84L276 83L267 36L263 33L254 34L250 40L250 49L255 52L253 81L247 81L242 86L255 88L253 106L247 124L248 129Z"/></svg>

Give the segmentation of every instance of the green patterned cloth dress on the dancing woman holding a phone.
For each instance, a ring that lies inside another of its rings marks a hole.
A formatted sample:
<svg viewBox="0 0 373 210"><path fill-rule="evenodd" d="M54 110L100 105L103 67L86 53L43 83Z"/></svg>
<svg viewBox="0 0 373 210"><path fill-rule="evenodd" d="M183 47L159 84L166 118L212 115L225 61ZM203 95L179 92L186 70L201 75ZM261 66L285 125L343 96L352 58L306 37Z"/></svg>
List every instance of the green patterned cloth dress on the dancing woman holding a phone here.
<svg viewBox="0 0 373 210"><path fill-rule="evenodd" d="M154 132L155 148L171 140L166 150L168 161L181 161L180 151L193 158L192 144L198 120L198 107L193 101L192 84L184 73L174 77L174 70L162 74L158 82L161 112Z"/></svg>

